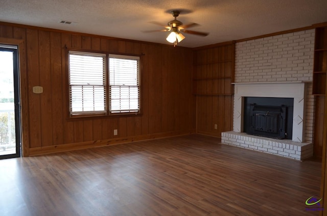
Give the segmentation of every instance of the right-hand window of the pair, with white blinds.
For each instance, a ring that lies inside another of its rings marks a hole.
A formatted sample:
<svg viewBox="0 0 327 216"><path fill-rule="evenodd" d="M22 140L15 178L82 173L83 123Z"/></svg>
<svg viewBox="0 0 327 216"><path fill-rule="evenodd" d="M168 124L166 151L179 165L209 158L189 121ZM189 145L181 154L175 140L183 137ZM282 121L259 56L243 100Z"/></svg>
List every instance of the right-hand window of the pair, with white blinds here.
<svg viewBox="0 0 327 216"><path fill-rule="evenodd" d="M109 112L140 110L139 57L109 54Z"/></svg>

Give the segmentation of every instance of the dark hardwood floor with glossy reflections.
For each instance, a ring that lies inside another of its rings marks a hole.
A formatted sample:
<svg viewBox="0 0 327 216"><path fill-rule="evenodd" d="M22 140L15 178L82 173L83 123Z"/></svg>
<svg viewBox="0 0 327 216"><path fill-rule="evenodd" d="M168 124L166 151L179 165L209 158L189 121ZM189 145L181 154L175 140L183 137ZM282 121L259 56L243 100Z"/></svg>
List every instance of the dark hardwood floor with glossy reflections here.
<svg viewBox="0 0 327 216"><path fill-rule="evenodd" d="M0 160L0 215L318 215L321 163L199 134Z"/></svg>

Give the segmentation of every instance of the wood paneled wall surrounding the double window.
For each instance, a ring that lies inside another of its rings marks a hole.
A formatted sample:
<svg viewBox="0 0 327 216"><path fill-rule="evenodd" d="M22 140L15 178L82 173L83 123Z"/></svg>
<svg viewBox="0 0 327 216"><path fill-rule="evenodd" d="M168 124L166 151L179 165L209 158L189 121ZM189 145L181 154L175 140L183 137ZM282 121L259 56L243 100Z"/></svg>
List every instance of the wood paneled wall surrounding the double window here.
<svg viewBox="0 0 327 216"><path fill-rule="evenodd" d="M20 53L24 156L195 132L192 49L0 23ZM162 40L165 38L163 37ZM0 40L4 43L4 40ZM142 57L143 115L68 118L67 47ZM43 93L32 92L42 86ZM113 130L118 129L118 136Z"/></svg>

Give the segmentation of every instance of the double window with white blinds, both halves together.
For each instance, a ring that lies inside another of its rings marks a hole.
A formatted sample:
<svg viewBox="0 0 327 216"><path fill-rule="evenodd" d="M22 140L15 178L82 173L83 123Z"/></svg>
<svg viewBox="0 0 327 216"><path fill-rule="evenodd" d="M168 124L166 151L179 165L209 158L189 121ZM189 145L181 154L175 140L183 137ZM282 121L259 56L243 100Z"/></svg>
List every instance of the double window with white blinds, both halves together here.
<svg viewBox="0 0 327 216"><path fill-rule="evenodd" d="M68 64L71 115L139 113L139 57L69 50Z"/></svg>

